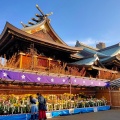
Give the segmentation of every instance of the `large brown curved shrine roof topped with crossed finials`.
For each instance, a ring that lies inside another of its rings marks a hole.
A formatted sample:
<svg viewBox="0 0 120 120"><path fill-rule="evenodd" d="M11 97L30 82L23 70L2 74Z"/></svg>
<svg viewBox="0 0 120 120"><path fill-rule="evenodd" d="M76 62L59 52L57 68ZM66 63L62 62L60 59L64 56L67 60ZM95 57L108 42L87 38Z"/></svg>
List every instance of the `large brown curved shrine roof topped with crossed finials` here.
<svg viewBox="0 0 120 120"><path fill-rule="evenodd" d="M82 48L68 46L51 27L48 16L50 16L52 12L44 14L38 5L36 5L36 8L40 14L36 14L37 18L32 18L33 22L29 21L29 25L21 22L23 29L18 29L8 22L6 23L0 35L0 54L4 54L16 40L21 43L35 43L40 48L42 47L42 49L67 53L68 56L74 59L80 58L76 53L80 52Z"/></svg>

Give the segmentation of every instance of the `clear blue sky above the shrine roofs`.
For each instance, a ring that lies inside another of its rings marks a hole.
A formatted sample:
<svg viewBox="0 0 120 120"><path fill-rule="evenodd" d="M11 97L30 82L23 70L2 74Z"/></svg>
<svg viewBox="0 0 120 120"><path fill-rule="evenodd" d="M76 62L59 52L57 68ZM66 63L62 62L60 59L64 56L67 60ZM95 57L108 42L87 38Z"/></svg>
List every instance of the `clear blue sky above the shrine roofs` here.
<svg viewBox="0 0 120 120"><path fill-rule="evenodd" d="M120 0L0 0L0 34L6 21L22 28L39 11L49 16L51 25L68 45L76 41L95 47L120 42Z"/></svg>

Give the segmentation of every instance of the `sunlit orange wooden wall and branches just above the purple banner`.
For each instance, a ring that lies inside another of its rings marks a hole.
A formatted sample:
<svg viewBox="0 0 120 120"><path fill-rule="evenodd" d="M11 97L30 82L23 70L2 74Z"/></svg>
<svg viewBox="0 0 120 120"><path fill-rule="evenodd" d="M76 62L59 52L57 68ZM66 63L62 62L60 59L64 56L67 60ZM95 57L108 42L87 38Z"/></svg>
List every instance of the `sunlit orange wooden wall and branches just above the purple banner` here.
<svg viewBox="0 0 120 120"><path fill-rule="evenodd" d="M3 67L2 65L0 66ZM23 53L13 55L11 59L7 61L5 67L81 77L92 76L88 73L87 68L85 67L80 68L78 66L68 66L67 63L44 56L33 56L32 59L30 54ZM99 70L99 74L96 75L96 78L114 80L119 76L120 74Z"/></svg>

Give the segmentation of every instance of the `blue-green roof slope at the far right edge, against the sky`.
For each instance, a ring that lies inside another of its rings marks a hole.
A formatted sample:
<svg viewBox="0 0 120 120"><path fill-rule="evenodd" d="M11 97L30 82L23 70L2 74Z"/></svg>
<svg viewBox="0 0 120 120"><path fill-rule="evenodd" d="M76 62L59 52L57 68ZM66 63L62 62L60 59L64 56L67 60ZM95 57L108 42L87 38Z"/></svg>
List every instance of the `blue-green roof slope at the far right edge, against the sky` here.
<svg viewBox="0 0 120 120"><path fill-rule="evenodd" d="M98 52L106 54L108 56L115 56L117 54L120 54L120 43L98 50Z"/></svg>

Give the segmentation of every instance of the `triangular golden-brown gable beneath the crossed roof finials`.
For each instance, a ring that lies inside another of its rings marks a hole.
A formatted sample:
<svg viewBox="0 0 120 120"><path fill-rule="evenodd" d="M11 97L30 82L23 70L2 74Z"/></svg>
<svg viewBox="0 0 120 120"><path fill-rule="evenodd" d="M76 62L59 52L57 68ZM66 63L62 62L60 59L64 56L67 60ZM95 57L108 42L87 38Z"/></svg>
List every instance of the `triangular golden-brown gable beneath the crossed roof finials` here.
<svg viewBox="0 0 120 120"><path fill-rule="evenodd" d="M22 29L23 31L32 34L33 36L49 39L51 42L57 42L67 45L53 30L50 25L50 20L46 17L43 21Z"/></svg>

